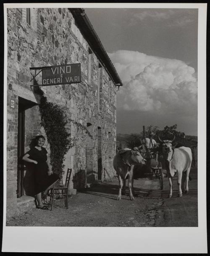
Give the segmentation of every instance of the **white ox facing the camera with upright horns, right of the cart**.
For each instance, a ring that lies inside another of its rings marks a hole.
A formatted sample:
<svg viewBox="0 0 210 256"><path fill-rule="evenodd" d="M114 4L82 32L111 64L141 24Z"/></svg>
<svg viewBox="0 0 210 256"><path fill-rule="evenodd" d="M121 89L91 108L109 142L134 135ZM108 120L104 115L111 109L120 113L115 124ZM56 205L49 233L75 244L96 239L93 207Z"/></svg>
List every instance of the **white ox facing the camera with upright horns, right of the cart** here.
<svg viewBox="0 0 210 256"><path fill-rule="evenodd" d="M188 193L188 181L189 181L189 172L192 164L192 151L187 147L174 148L172 147L172 142L175 140L175 136L173 140L161 140L158 136L158 139L162 143L163 149L163 158L165 161L165 168L167 170L167 176L170 185L170 193L169 197L172 197L172 185L173 185L173 176L174 174L178 174L178 197L182 196L181 190L181 180L182 173L186 172L186 187L185 193ZM184 190L184 186L183 186Z"/></svg>

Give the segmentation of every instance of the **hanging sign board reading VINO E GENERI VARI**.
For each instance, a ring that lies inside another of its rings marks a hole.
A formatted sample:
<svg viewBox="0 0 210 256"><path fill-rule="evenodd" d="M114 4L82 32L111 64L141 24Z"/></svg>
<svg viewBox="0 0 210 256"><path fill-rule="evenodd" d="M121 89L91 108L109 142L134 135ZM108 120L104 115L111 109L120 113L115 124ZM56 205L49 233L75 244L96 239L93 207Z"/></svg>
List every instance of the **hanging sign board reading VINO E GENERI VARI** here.
<svg viewBox="0 0 210 256"><path fill-rule="evenodd" d="M81 83L81 63L42 69L42 86Z"/></svg>

